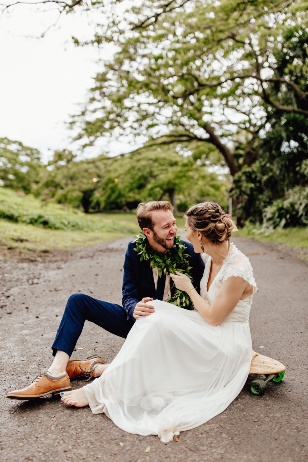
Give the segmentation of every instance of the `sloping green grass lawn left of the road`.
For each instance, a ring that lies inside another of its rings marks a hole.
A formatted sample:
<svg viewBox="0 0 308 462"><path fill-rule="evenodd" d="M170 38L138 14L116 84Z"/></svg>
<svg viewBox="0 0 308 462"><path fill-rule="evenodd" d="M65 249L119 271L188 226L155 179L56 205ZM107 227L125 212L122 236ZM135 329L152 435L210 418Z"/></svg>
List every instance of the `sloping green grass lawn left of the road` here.
<svg viewBox="0 0 308 462"><path fill-rule="evenodd" d="M135 235L133 213L85 214L0 188L0 255L70 250Z"/></svg>

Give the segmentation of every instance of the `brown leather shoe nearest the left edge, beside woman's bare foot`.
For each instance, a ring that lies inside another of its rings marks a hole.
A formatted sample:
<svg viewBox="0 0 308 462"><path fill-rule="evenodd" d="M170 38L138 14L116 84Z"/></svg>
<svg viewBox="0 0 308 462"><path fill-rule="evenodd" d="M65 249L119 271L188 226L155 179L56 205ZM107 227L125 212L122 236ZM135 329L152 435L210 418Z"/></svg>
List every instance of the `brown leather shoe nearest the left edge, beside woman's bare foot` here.
<svg viewBox="0 0 308 462"><path fill-rule="evenodd" d="M52 377L51 374L42 372L37 376L29 387L21 390L10 391L6 398L12 400L30 400L47 395L59 395L61 391L71 390L71 382L67 374L60 377Z"/></svg>

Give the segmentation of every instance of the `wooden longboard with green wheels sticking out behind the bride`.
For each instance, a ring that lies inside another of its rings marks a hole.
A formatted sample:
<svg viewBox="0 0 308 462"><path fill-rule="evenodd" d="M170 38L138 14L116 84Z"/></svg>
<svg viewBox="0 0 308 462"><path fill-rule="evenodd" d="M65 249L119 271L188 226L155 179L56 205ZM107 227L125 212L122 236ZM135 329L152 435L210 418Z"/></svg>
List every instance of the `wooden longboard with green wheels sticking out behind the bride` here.
<svg viewBox="0 0 308 462"><path fill-rule="evenodd" d="M280 382L285 376L284 371L285 366L279 363L279 361L254 351L249 374L265 375L265 379L257 378L250 382L250 393L257 396L263 395L266 383L271 382L271 380L273 382Z"/></svg>

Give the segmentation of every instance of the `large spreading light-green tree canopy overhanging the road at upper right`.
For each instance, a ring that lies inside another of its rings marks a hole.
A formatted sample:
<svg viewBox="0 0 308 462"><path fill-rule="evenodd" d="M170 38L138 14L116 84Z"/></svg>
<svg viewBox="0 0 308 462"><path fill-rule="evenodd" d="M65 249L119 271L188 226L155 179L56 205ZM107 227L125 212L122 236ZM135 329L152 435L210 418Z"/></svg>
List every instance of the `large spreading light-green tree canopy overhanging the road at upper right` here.
<svg viewBox="0 0 308 462"><path fill-rule="evenodd" d="M102 26L96 42L120 49L102 63L73 123L85 143L133 133L186 143L200 158L214 148L234 176L257 159L268 111L308 116L308 2L190 0L171 8L178 4L151 15L156 2L143 2L125 32Z"/></svg>

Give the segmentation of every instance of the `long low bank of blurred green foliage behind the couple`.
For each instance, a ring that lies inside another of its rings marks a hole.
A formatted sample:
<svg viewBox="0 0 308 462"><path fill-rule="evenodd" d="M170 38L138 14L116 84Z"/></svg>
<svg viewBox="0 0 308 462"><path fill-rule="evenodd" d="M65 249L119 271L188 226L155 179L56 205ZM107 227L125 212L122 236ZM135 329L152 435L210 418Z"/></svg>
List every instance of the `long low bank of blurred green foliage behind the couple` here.
<svg viewBox="0 0 308 462"><path fill-rule="evenodd" d="M82 206L86 212L133 209L141 201L163 199L172 201L175 209L179 203L183 211L195 201L216 200L225 204L227 188L226 181L205 166L198 166L191 156L184 158L169 146L145 146L116 158L102 155L55 164L51 171L46 171L36 195L73 207Z"/></svg>

